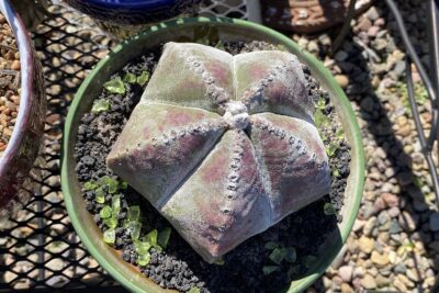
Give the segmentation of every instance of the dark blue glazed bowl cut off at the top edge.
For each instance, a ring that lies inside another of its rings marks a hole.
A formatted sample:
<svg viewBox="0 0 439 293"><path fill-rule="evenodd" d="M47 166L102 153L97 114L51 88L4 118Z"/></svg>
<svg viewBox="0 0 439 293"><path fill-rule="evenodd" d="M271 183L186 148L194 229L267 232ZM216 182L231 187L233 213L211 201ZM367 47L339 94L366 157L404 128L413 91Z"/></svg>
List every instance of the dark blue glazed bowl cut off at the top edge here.
<svg viewBox="0 0 439 293"><path fill-rule="evenodd" d="M67 0L91 18L117 25L139 25L176 18L201 0Z"/></svg>

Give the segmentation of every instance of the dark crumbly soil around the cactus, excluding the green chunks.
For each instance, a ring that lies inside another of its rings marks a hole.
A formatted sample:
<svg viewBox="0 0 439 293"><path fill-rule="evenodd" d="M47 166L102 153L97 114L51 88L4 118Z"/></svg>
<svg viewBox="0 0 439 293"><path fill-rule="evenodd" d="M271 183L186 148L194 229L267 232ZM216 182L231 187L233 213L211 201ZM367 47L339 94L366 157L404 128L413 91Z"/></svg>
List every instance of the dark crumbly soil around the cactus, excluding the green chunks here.
<svg viewBox="0 0 439 293"><path fill-rule="evenodd" d="M275 47L262 42L248 44L225 44L222 47L238 54L260 49L274 49ZM139 75L144 70L153 74L159 59L161 47L144 53L144 56L131 61L114 77L123 77L126 72ZM311 71L304 66L304 72L308 81L309 94L315 102L325 101L322 108L323 114L329 117L329 123L320 127L320 134L326 136L326 142L336 139L337 131L341 128L329 95L319 88L317 81L311 76ZM98 180L103 176L116 178L105 167L105 158L122 132L132 111L138 103L144 88L138 84L124 82L125 94L113 94L103 90L98 99L105 99L111 103L111 110L100 113L87 113L81 120L78 131L75 158L76 171L79 180L85 183ZM309 204L301 211L285 217L280 223L264 233L251 237L237 248L224 256L223 264L210 264L172 229L170 241L166 250L150 250L150 262L142 267L142 272L166 289L189 291L199 288L201 292L277 292L284 289L291 280L303 275L311 263L319 246L325 241L329 233L337 229L337 222L342 218L338 214L344 203L344 193L349 176L350 146L346 139L338 142L334 155L329 157L329 166L333 170L333 189L330 194ZM105 201L111 202L112 195L106 192ZM114 194L113 194L114 195ZM142 211L143 228L147 233L151 229L161 230L170 224L164 218L142 195L134 189L121 190L122 210L119 219L127 217L127 206L139 205ZM100 218L103 204L94 201L94 191L83 190L87 210L94 215L97 225L104 232L106 226ZM334 207L328 212L327 207ZM290 263L282 261L279 266L270 260L272 250L266 248L266 244L273 241L280 247L294 247L296 261ZM123 227L116 228L115 249L122 251L125 261L136 264L136 252L130 232ZM263 267L278 266L272 273L264 274Z"/></svg>

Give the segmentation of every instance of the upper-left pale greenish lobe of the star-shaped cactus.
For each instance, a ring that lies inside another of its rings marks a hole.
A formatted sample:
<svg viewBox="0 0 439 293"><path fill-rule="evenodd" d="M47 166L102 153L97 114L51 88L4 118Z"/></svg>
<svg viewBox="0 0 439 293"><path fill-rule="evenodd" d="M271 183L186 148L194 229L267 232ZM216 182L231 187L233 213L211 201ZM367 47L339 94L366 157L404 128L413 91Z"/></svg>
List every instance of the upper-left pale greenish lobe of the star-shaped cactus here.
<svg viewBox="0 0 439 293"><path fill-rule="evenodd" d="M232 64L213 47L168 43L143 99L215 111L233 98Z"/></svg>

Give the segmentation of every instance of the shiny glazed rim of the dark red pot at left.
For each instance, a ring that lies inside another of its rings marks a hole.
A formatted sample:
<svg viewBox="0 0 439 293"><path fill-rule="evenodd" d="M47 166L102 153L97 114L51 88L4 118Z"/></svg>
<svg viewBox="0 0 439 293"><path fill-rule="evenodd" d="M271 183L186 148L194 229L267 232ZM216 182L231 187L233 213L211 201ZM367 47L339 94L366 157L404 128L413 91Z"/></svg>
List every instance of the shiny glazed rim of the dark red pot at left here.
<svg viewBox="0 0 439 293"><path fill-rule="evenodd" d="M32 41L27 33L23 21L21 20L19 13L14 11L12 5L8 0L0 1L0 12L7 19L10 25L18 45L18 50L20 53L20 106L16 116L16 122L12 136L8 143L5 150L0 158L0 179L3 178L13 158L19 155L21 145L25 138L25 129L30 126L32 105L35 100L33 92L33 76L35 72L34 57L32 49Z"/></svg>

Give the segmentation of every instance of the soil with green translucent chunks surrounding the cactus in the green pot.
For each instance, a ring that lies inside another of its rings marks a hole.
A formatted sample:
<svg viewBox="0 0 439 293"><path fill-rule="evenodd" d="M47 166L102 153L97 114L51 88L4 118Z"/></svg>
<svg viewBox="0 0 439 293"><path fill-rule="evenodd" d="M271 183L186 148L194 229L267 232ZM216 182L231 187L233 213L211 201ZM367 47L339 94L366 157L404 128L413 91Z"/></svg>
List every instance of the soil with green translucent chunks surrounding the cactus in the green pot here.
<svg viewBox="0 0 439 293"><path fill-rule="evenodd" d="M209 45L233 55L283 49L263 42ZM104 240L120 250L125 261L137 266L164 289L181 292L275 292L288 288L292 280L306 273L316 260L319 246L342 221L339 212L350 171L350 146L329 94L303 66L308 93L316 104L315 123L331 168L330 194L286 216L225 255L222 261L211 264L202 260L146 199L105 166L105 158L138 103L161 50L160 46L143 52L140 57L114 74L104 83L101 95L95 97L90 112L81 119L75 159L87 210L94 216ZM143 250L148 248L132 239L133 230L138 229L130 226L130 221L137 217L136 206L139 206L142 228L140 236L134 237L142 239L142 236L148 235L150 238L154 230L159 233L158 245L149 248L147 255ZM169 241L164 241L162 236L169 229Z"/></svg>

